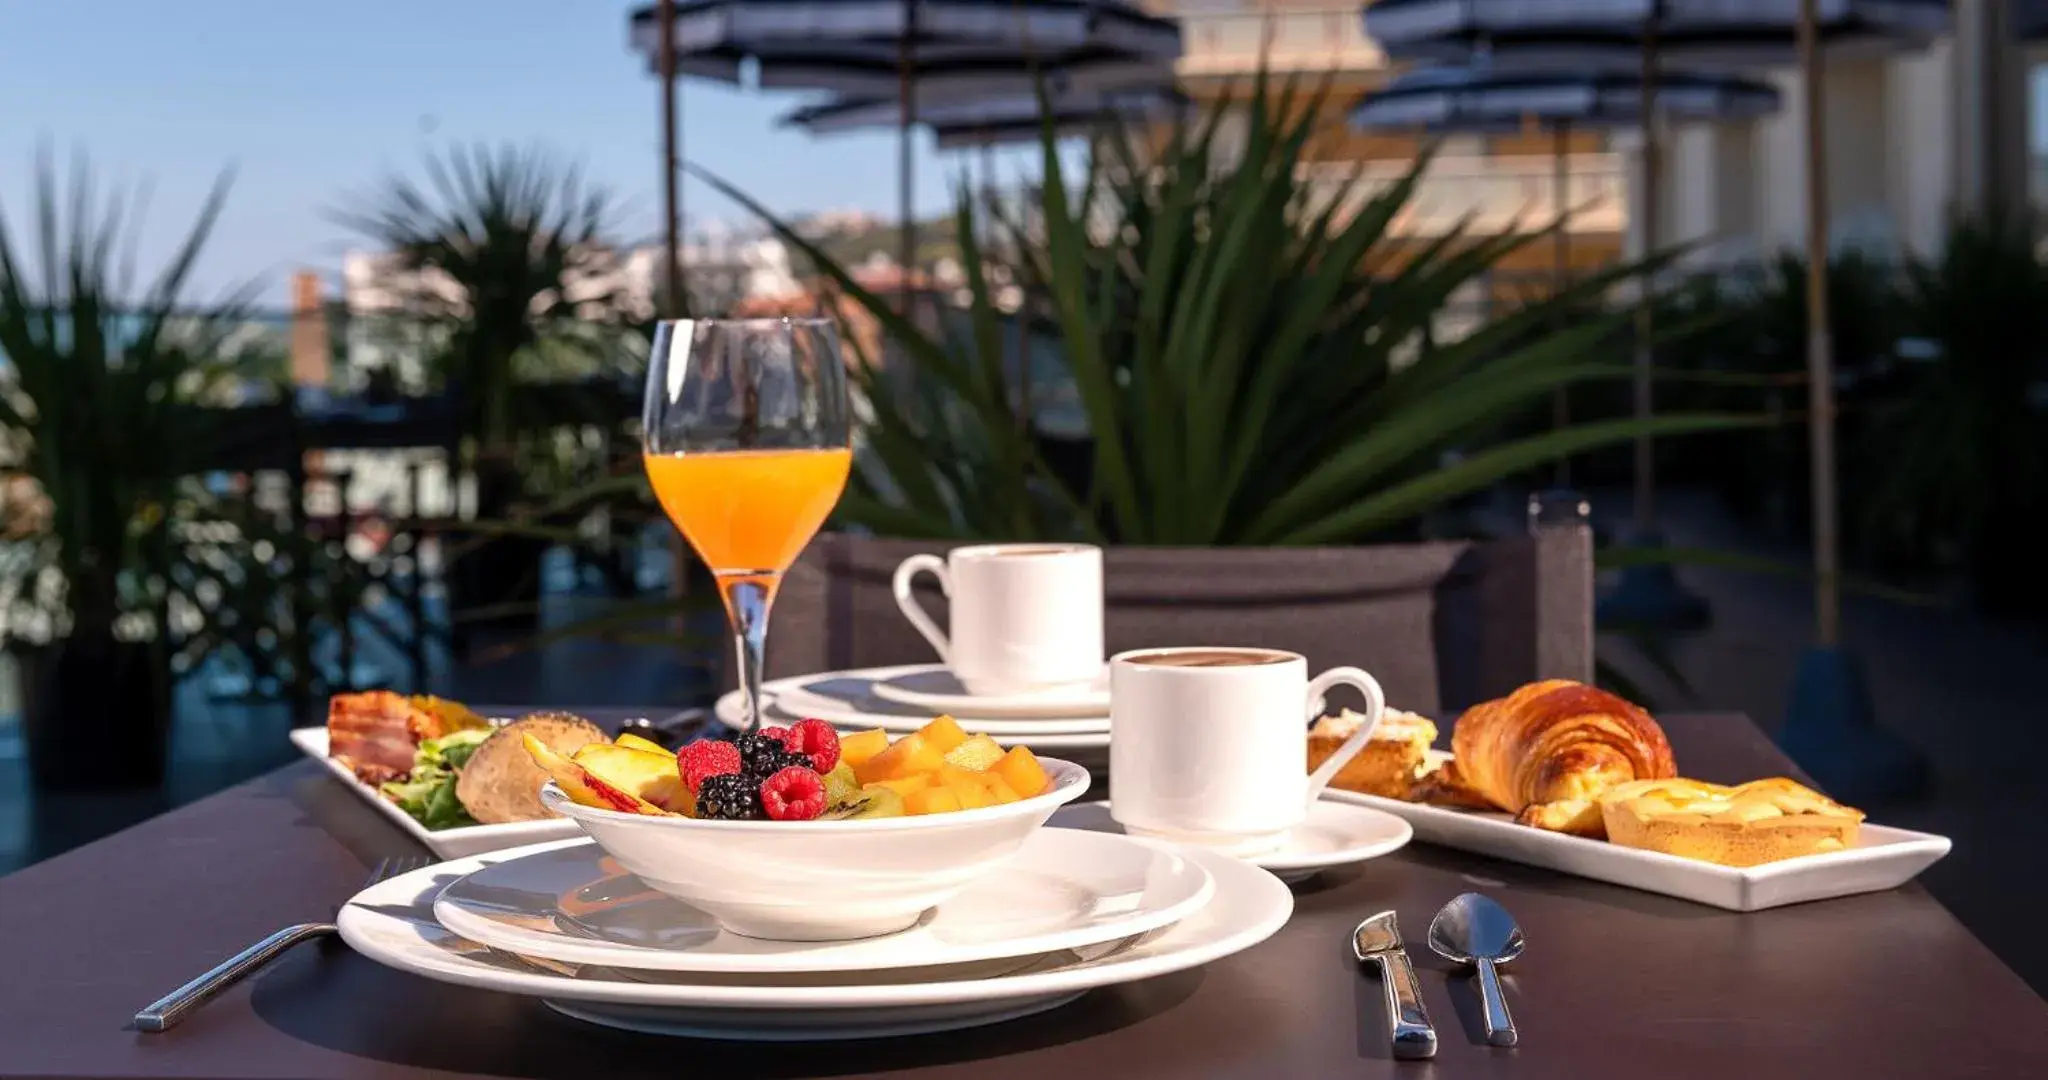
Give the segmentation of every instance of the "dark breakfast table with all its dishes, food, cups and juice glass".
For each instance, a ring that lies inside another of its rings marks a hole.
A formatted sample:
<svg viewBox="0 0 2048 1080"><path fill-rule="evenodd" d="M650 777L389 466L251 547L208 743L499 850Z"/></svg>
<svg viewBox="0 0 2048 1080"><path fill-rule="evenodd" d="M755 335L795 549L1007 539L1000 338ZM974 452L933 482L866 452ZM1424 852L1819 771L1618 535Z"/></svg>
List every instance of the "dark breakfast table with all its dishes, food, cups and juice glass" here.
<svg viewBox="0 0 2048 1080"><path fill-rule="evenodd" d="M0 879L0 1078L2048 1076L1917 883L1950 840L1741 715L1110 652L1090 543L911 555L928 662L766 678L850 469L831 334L657 326L731 693L334 695L305 760Z"/></svg>

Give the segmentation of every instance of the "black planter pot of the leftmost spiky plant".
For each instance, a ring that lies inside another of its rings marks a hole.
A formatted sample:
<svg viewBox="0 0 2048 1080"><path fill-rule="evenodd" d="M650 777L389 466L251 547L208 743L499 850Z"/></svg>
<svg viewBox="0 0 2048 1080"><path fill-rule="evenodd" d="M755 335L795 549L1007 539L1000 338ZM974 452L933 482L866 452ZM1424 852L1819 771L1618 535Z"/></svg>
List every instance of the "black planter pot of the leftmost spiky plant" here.
<svg viewBox="0 0 2048 1080"><path fill-rule="evenodd" d="M150 641L109 635L18 648L29 779L39 791L164 783L170 672Z"/></svg>

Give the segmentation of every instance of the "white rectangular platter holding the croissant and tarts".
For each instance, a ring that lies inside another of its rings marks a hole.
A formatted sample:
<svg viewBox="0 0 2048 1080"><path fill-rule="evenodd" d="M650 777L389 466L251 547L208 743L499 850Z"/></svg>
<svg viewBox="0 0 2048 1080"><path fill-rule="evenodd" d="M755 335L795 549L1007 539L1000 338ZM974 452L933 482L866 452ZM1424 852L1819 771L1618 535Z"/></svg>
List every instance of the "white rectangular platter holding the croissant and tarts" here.
<svg viewBox="0 0 2048 1080"><path fill-rule="evenodd" d="M1808 900L1833 900L1905 885L1948 855L1948 836L1864 824L1858 844L1831 855L1806 855L1761 867L1722 867L1606 840L1518 826L1505 814L1446 809L1378 795L1329 789L1325 799L1370 805L1403 818L1425 844L1470 850L1612 885L1759 912Z"/></svg>

